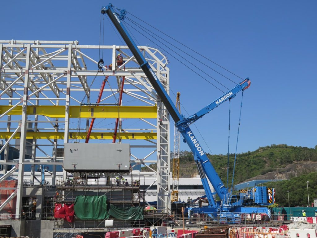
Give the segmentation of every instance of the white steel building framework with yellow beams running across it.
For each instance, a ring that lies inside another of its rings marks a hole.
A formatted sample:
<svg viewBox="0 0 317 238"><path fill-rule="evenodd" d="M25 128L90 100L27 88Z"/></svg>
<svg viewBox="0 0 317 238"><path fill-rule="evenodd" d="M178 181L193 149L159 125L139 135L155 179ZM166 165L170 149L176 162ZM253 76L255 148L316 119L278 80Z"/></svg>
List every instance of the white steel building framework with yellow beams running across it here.
<svg viewBox="0 0 317 238"><path fill-rule="evenodd" d="M58 149L64 143L84 142L90 118L96 118L92 143L111 143L115 118L120 119L117 142L131 144L132 162L148 168L145 163L157 162L158 206L169 209L169 113L127 46L0 40L0 48L0 139L5 140L0 165L5 174L9 165L19 164L16 215L21 213L24 167L30 167L34 182L36 165L51 166L55 185L57 166L63 163ZM151 47L139 49L168 92L167 58ZM98 71L101 52L105 66ZM118 53L125 63L111 69ZM103 98L96 105L106 76ZM123 76L123 101L118 105ZM20 149L19 158L9 160L9 145Z"/></svg>

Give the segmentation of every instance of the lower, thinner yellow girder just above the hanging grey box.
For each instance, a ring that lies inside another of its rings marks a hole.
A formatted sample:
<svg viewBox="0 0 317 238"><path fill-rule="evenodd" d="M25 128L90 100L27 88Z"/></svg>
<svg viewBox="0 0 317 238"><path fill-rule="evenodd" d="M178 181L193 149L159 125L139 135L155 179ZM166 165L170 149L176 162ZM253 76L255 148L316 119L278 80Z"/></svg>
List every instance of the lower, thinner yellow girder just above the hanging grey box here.
<svg viewBox="0 0 317 238"><path fill-rule="evenodd" d="M9 139L12 132L0 132L0 139ZM86 139L87 132L69 132L69 139ZM113 132L92 132L90 139L112 140ZM156 132L121 132L117 133L117 139L121 140L156 140ZM16 133L13 139L20 139L20 133ZM64 132L27 132L26 139L64 139Z"/></svg>

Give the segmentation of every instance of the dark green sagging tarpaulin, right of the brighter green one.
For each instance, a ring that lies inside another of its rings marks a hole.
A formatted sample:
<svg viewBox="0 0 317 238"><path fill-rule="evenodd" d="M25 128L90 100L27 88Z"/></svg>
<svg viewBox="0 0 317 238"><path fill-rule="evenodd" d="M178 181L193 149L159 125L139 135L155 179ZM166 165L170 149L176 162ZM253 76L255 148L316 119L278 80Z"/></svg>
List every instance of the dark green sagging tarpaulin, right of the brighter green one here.
<svg viewBox="0 0 317 238"><path fill-rule="evenodd" d="M130 208L118 208L110 205L109 215L119 220L143 220L143 208L142 207L130 207Z"/></svg>

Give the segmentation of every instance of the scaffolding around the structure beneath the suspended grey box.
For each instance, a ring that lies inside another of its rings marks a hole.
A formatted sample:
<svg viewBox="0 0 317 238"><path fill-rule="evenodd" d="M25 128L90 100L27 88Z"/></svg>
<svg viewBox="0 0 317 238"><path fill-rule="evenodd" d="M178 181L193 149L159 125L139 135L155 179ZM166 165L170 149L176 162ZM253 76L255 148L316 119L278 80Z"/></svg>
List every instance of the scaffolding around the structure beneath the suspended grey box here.
<svg viewBox="0 0 317 238"><path fill-rule="evenodd" d="M110 175L110 178L115 177ZM57 181L55 191L55 203L74 204L77 196L107 196L107 204L120 207L143 207L145 204L144 191L140 190L140 177L132 174L125 177L128 182L120 182L114 179L100 181L94 178L74 178L66 181ZM140 221L115 221L117 227L140 227L144 226L144 220ZM55 228L95 228L104 229L105 220L82 221L74 216L74 222L67 222L64 219L55 219Z"/></svg>

